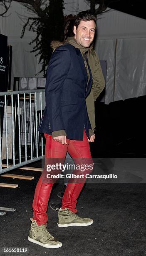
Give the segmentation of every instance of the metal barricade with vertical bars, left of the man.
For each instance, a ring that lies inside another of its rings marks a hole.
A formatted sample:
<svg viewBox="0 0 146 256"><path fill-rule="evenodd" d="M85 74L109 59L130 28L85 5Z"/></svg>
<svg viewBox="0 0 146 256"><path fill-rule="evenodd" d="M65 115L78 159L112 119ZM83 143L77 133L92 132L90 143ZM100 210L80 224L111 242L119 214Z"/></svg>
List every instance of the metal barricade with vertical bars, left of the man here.
<svg viewBox="0 0 146 256"><path fill-rule="evenodd" d="M32 100L33 100L33 106L34 106L33 111L32 111ZM2 103L3 103L3 106L2 106ZM28 109L26 108L26 105L29 105L29 113L30 113L29 116L27 115ZM40 118L42 117L42 111L44 108L45 108L45 89L24 90L24 91L15 91L15 92L0 92L0 174L44 158L43 138L41 136L41 140L40 141L38 140L39 133L37 131ZM22 109L24 109L23 122L21 121ZM37 112L39 112L39 118L38 118ZM34 114L34 119L32 120L33 114ZM16 123L16 117L17 117L17 123ZM24 127L24 134L22 134L22 123ZM28 141L28 138L27 138L28 123L29 123L29 131L30 131L29 133L30 141ZM16 125L18 125L17 129L16 129ZM18 130L17 133L16 133L16 130ZM22 135L24 135L24 141L22 140L23 138ZM17 159L17 163L15 161L16 160L15 159L16 136L19 141L18 143L19 156ZM11 138L10 141L9 141L9 137ZM35 139L33 139L33 137ZM11 166L9 165L9 162L10 162L9 149L10 148L11 148L11 155L12 155L11 161L13 162ZM24 152L25 152L24 159L22 158L22 148L24 149ZM28 157L27 155L28 148L30 149L30 157ZM35 156L33 155L34 148L35 148ZM39 148L39 151L38 151L38 148ZM5 152L4 155L6 157L3 156L3 151ZM2 168L3 158L6 159L6 168Z"/></svg>

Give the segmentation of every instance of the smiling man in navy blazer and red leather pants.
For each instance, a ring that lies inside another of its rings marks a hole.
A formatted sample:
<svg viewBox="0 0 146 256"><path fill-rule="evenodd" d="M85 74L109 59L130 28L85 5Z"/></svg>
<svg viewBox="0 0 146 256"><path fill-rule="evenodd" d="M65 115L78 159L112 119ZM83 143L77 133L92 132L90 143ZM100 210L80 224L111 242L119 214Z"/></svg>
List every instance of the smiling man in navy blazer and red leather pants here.
<svg viewBox="0 0 146 256"><path fill-rule="evenodd" d="M46 79L46 108L40 123L45 133L45 159L65 159L67 151L75 164L93 164L89 141L94 142L85 99L92 87L89 68L89 46L95 35L96 16L89 12L77 15L73 41L59 46L49 61ZM82 52L82 54L81 54ZM87 58L86 58L87 52ZM47 161L47 160L46 160ZM76 170L75 170L76 171ZM90 172L89 168L86 172ZM69 182L58 213L59 227L88 226L92 219L76 215L77 198L85 177L78 183ZM40 177L33 200L33 218L28 240L46 248L58 248L62 243L49 234L47 206L53 183Z"/></svg>

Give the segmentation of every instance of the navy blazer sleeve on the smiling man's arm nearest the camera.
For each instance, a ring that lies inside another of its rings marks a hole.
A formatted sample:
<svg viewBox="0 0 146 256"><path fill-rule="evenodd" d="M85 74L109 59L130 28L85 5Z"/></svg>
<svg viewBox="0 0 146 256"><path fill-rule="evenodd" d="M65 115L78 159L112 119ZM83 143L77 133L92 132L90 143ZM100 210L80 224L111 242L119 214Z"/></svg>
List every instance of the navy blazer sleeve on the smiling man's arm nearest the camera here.
<svg viewBox="0 0 146 256"><path fill-rule="evenodd" d="M65 130L62 118L61 96L70 64L69 50L65 46L59 46L53 52L49 61L45 90L47 114L52 131Z"/></svg>

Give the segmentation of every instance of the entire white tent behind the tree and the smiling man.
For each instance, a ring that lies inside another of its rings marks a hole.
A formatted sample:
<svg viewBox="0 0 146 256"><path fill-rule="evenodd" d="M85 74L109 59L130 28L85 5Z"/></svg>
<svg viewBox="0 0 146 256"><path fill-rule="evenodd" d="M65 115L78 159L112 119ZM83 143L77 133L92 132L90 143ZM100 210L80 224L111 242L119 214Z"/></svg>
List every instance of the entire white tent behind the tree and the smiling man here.
<svg viewBox="0 0 146 256"><path fill-rule="evenodd" d="M85 1L64 3L64 14L89 9ZM12 45L12 82L13 77L34 77L41 68L39 57L30 53L32 46L28 45L35 34L26 31L20 38L23 23L17 13L32 16L21 4L12 2L8 17L0 17L0 33L8 36ZM107 60L105 103L146 95L146 20L109 10L97 19L97 35L95 50L99 59Z"/></svg>

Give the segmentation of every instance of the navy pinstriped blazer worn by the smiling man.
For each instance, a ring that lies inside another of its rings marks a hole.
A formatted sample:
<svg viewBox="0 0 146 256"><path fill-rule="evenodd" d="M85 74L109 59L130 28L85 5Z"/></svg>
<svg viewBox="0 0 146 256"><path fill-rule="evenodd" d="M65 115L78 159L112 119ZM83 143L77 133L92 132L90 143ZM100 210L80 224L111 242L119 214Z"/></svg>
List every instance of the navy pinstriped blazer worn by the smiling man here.
<svg viewBox="0 0 146 256"><path fill-rule="evenodd" d="M87 86L87 71L79 49L71 44L59 46L47 69L46 107L39 131L65 130L67 138L83 140L83 128L89 138L91 129L85 98L92 87L92 73Z"/></svg>

